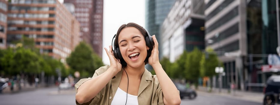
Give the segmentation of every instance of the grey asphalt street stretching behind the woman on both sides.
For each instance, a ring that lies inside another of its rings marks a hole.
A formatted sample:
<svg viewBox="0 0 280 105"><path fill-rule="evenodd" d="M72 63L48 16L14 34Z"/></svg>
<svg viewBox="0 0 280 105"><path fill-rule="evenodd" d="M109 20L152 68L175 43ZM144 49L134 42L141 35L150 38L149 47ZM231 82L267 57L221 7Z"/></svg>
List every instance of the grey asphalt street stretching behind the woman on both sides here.
<svg viewBox="0 0 280 105"><path fill-rule="evenodd" d="M75 105L75 92L57 88L41 88L14 94L0 95L1 105ZM238 100L234 98L198 92L197 98L182 99L181 105L261 105L261 103Z"/></svg>

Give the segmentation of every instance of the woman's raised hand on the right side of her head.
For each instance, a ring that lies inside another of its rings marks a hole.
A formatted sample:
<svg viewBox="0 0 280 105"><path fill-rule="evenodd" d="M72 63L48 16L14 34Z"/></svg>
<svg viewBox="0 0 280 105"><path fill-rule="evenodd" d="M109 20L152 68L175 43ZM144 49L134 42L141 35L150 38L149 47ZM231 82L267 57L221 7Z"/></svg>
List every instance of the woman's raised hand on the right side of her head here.
<svg viewBox="0 0 280 105"><path fill-rule="evenodd" d="M153 46L152 54L149 57L149 64L151 66L154 66L155 64L159 64L159 59L158 59L158 41L155 38L155 35L152 36L155 45Z"/></svg>

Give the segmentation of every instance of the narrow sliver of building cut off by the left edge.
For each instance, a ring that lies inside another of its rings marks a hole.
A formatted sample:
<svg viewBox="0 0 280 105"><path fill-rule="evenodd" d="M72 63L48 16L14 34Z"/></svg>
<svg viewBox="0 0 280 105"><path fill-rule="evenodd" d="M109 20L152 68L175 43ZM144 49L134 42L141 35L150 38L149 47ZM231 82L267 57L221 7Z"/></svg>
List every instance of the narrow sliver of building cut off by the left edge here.
<svg viewBox="0 0 280 105"><path fill-rule="evenodd" d="M8 2L0 0L0 49L6 48Z"/></svg>

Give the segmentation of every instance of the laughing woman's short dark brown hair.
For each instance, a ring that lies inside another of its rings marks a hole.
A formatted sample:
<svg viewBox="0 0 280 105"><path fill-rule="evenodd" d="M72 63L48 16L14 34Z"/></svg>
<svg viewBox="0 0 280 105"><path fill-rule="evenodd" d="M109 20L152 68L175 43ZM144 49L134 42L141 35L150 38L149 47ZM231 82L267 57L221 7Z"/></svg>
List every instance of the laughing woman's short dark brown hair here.
<svg viewBox="0 0 280 105"><path fill-rule="evenodd" d="M140 26L136 23L130 22L128 24L123 24L122 26L119 27L119 30L116 34L116 39L115 39L115 42L114 42L115 48L119 47L119 44L118 44L119 33L122 31L122 29L124 29L126 27L135 27L136 29L138 29L141 32L141 34L144 36L144 39L146 41L146 36L148 36L148 33L146 32L146 30L142 26ZM147 50L147 56L146 56L146 59L144 61L145 64L149 63L149 57L151 56L151 53L152 53L152 48L149 48L149 50ZM127 66L127 63L124 61L124 59L120 59L120 63L122 64L122 67Z"/></svg>

